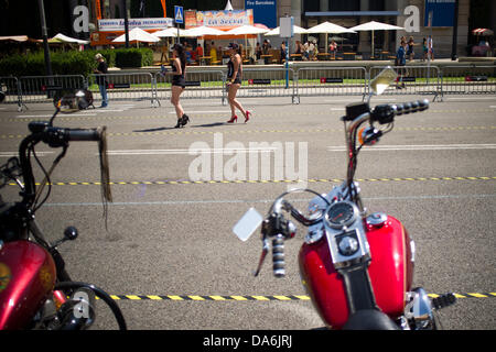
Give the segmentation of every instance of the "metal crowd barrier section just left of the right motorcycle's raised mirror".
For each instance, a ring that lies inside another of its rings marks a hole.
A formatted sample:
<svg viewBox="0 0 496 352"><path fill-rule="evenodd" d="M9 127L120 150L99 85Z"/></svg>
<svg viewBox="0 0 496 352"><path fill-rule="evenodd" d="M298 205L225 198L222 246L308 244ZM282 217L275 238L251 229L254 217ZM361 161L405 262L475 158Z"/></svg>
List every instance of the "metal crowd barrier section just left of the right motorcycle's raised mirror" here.
<svg viewBox="0 0 496 352"><path fill-rule="evenodd" d="M367 92L365 67L302 67L296 70L298 96L362 96Z"/></svg>

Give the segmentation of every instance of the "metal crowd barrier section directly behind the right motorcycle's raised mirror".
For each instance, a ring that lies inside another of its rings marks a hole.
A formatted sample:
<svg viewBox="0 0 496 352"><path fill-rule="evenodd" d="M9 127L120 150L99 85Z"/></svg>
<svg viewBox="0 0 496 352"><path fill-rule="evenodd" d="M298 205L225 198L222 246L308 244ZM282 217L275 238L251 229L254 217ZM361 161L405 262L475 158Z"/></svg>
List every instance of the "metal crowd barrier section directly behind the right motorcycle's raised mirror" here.
<svg viewBox="0 0 496 352"><path fill-rule="evenodd" d="M369 81L386 66L370 67ZM392 66L398 73L396 84L389 86L382 95L433 95L442 99L441 76L438 66Z"/></svg>

